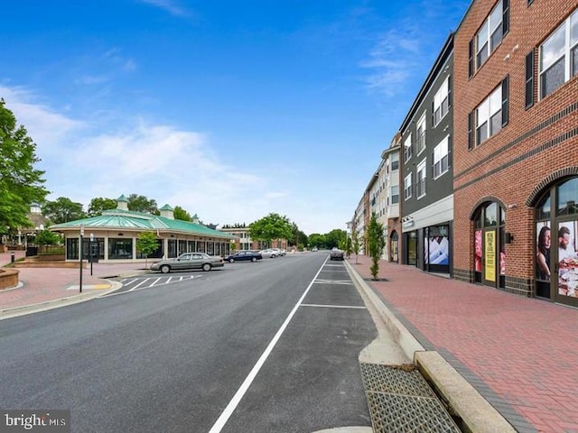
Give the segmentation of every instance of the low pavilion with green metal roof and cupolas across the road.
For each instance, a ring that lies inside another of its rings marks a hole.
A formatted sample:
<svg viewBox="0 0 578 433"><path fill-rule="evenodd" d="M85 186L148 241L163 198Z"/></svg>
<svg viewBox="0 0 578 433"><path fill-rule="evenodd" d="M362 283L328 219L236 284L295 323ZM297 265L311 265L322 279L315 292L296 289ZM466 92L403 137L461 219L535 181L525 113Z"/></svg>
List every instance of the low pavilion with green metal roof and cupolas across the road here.
<svg viewBox="0 0 578 433"><path fill-rule="evenodd" d="M156 235L158 248L148 258L172 258L182 253L200 252L225 256L236 236L214 230L199 223L174 219L172 207L164 205L161 215L128 210L125 196L117 198L117 208L90 217L50 226L49 230L64 235L66 260L79 260L80 234L83 258L92 256L103 263L144 261L136 250L136 238L143 232Z"/></svg>

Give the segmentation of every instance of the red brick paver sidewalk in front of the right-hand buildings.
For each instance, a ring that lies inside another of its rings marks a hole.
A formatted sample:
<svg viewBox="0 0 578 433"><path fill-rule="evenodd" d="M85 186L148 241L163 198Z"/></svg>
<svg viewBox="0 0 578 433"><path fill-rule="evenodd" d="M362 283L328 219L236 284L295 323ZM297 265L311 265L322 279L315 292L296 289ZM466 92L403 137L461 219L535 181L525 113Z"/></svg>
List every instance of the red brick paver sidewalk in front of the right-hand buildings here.
<svg viewBox="0 0 578 433"><path fill-rule="evenodd" d="M578 432L578 310L370 259L350 263L518 431Z"/></svg>

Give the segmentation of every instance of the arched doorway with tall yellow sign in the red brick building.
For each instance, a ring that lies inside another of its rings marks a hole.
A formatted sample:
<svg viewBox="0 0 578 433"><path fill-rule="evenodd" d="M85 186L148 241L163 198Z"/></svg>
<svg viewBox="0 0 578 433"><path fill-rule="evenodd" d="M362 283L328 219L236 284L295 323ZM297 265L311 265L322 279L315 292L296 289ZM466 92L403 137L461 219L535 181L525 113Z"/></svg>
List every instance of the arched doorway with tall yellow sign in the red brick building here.
<svg viewBox="0 0 578 433"><path fill-rule="evenodd" d="M486 286L506 286L506 213L496 201L480 205L474 213L474 281Z"/></svg>

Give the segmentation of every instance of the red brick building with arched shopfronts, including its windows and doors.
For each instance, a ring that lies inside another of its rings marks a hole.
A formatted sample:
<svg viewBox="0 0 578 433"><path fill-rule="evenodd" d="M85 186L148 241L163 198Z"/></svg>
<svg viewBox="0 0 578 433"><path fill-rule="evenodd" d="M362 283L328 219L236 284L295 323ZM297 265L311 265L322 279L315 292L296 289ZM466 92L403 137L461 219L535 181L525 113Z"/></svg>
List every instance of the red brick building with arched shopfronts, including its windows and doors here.
<svg viewBox="0 0 578 433"><path fill-rule="evenodd" d="M454 278L578 306L578 0L474 0L453 91Z"/></svg>

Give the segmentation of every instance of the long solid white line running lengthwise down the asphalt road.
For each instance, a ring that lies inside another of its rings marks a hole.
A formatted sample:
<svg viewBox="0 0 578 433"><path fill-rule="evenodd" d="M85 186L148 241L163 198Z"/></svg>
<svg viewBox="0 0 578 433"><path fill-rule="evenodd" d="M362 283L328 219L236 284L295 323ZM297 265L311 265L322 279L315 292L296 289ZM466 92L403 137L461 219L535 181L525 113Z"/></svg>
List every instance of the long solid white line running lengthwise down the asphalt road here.
<svg viewBox="0 0 578 433"><path fill-rule="evenodd" d="M327 263L327 260L328 259L325 259L325 262L323 262L322 267L325 263ZM249 389L249 386L251 386L251 383L255 380L256 374L259 373L259 370L261 370L261 367L263 366L263 364L265 364L266 359L269 357L269 355L271 355L273 348L275 347L275 345L279 341L279 338L281 338L281 336L283 335L285 328L289 325L289 322L294 317L297 309L299 309L299 306L303 302L303 299L305 299L305 296L307 296L307 293L312 288L313 281L315 281L315 279L319 275L319 272L322 272L322 267L319 268L319 271L317 271L317 273L313 277L312 281L309 283L309 286L307 286L307 289L305 289L305 291L303 292L303 295L297 301L294 308L289 313L289 316L287 316L287 318L285 318L283 325L281 325L281 327L279 328L279 330L277 331L277 333L275 334L275 336L273 337L273 339L271 340L269 345L267 345L265 352L263 352L263 354L259 357L256 364L253 366L251 371L248 373L245 381L243 381L243 383L241 383L241 386L238 388L237 392L235 392L235 395L233 396L231 401L228 402L227 407L225 408L225 410L222 411L222 413L219 416L219 419L217 419L217 421L215 421L215 424L213 424L213 427L210 428L209 433L219 433L220 430L222 430L225 427L225 424L227 424L227 421L230 418L230 416L233 414L233 411L235 409L237 409L238 403L241 401L241 399L245 395L245 392L247 392L247 390Z"/></svg>

